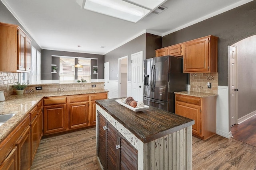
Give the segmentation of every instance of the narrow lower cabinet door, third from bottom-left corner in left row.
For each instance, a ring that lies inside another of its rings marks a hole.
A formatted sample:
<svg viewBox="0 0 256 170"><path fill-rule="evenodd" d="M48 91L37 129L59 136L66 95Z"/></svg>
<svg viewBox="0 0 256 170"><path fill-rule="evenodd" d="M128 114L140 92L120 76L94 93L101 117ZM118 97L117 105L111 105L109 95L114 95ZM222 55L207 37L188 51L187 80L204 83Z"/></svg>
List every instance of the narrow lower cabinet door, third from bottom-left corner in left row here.
<svg viewBox="0 0 256 170"><path fill-rule="evenodd" d="M38 134L38 115L32 120L30 123L30 128L31 128L31 165L33 162L33 159L36 155L36 150L38 148L38 139L39 139L39 134Z"/></svg>

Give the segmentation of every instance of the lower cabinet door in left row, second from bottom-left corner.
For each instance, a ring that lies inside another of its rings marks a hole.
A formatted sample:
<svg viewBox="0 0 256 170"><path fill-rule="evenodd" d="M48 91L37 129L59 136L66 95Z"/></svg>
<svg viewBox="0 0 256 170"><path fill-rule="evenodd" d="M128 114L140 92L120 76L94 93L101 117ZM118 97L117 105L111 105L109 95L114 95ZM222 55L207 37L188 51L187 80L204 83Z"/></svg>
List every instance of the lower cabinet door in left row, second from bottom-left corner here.
<svg viewBox="0 0 256 170"><path fill-rule="evenodd" d="M30 127L24 131L18 142L16 143L18 149L18 169L30 169Z"/></svg>

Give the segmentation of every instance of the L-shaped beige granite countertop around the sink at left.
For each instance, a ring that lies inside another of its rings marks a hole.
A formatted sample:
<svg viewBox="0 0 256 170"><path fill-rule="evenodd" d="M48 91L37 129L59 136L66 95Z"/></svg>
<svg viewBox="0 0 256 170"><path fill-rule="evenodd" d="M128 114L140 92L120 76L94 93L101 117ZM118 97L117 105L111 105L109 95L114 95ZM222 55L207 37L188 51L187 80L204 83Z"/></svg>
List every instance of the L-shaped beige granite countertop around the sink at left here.
<svg viewBox="0 0 256 170"><path fill-rule="evenodd" d="M0 142L20 123L20 121L44 97L70 96L78 94L93 94L108 92L105 89L75 90L64 92L42 92L34 94L10 95L0 102L0 115L16 113L12 118L0 126Z"/></svg>

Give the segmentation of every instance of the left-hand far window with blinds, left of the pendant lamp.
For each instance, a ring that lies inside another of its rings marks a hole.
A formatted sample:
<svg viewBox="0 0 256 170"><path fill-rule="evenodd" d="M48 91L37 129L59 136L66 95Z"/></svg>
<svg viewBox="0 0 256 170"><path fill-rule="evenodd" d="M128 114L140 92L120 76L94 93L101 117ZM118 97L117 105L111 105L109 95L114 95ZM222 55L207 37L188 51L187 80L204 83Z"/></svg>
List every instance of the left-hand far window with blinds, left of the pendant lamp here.
<svg viewBox="0 0 256 170"><path fill-rule="evenodd" d="M75 59L60 57L60 83L75 82Z"/></svg>

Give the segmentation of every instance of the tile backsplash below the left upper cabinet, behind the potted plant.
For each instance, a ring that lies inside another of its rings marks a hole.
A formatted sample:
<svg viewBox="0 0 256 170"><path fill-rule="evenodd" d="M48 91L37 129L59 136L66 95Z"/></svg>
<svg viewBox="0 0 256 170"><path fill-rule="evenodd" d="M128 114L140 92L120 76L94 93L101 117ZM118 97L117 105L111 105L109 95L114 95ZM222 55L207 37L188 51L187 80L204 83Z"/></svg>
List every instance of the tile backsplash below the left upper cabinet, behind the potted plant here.
<svg viewBox="0 0 256 170"><path fill-rule="evenodd" d="M12 85L18 82L17 72L0 72L0 90L4 91L4 96L12 94Z"/></svg>

